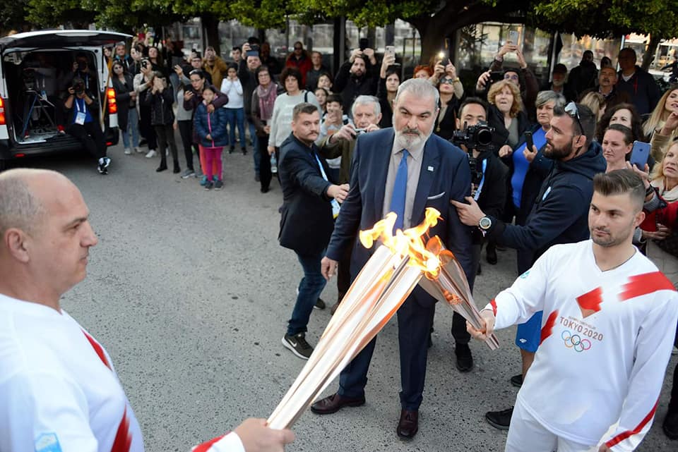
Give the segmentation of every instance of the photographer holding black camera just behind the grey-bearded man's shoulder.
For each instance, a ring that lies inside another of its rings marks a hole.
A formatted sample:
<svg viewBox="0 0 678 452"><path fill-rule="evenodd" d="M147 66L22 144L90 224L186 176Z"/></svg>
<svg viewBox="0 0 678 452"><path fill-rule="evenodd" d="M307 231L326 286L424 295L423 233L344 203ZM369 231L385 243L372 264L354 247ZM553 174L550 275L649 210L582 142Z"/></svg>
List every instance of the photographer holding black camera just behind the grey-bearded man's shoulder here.
<svg viewBox="0 0 678 452"><path fill-rule="evenodd" d="M468 97L460 106L456 120L457 130L452 142L468 152L471 169L471 195L483 212L500 217L506 203L506 174L509 172L492 149L494 129L487 126L487 104L477 97ZM480 274L480 250L484 233L472 230L471 268ZM457 312L452 320L452 336L456 343L456 365L460 372L473 368L473 358L468 347L470 335L466 322Z"/></svg>

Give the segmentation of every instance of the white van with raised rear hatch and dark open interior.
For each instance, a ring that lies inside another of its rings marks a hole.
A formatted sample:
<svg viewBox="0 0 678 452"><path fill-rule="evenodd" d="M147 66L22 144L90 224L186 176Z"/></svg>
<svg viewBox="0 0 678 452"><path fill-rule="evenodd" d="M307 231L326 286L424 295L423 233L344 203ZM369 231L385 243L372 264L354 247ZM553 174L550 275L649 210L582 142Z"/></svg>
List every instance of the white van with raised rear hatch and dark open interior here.
<svg viewBox="0 0 678 452"><path fill-rule="evenodd" d="M63 102L76 64L87 75L88 93L97 97L102 116L96 120L106 144L117 144L117 105L103 46L129 37L97 30L41 30L0 38L0 171L22 157L82 149L81 142L63 133L71 119Z"/></svg>

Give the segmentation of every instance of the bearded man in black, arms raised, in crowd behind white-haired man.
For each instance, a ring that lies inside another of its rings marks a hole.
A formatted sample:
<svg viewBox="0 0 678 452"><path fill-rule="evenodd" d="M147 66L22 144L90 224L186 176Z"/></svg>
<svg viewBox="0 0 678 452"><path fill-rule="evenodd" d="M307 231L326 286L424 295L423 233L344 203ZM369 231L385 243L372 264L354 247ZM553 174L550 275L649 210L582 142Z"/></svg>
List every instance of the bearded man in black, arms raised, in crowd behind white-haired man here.
<svg viewBox="0 0 678 452"><path fill-rule="evenodd" d="M333 91L341 94L344 111L350 111L353 101L361 94L376 95L379 76L374 73L374 49L353 49L334 79Z"/></svg>

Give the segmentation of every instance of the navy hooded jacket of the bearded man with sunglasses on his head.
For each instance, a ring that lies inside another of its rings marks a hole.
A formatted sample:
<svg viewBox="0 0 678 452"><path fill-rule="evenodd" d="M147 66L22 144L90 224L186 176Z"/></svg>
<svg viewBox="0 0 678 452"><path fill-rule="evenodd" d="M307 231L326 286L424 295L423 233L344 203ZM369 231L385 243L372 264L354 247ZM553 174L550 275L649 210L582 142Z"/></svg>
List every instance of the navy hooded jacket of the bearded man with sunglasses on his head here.
<svg viewBox="0 0 678 452"><path fill-rule="evenodd" d="M552 245L588 239L593 176L604 173L605 168L602 147L595 141L580 156L556 161L542 183L525 226L506 224L490 216L488 235L497 243L532 253L532 262Z"/></svg>

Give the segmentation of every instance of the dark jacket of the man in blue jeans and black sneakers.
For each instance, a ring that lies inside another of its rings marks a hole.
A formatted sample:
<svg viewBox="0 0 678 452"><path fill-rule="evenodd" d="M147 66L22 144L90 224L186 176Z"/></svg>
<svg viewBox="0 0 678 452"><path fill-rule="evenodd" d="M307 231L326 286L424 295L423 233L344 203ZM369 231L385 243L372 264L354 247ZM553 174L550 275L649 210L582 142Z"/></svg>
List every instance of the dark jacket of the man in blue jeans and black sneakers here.
<svg viewBox="0 0 678 452"><path fill-rule="evenodd" d="M292 133L280 145L278 176L283 187L283 211L278 240L300 255L323 252L334 227L331 198L327 196L331 183L323 178L313 152L318 152L315 144L308 147ZM327 162L319 159L329 174Z"/></svg>

